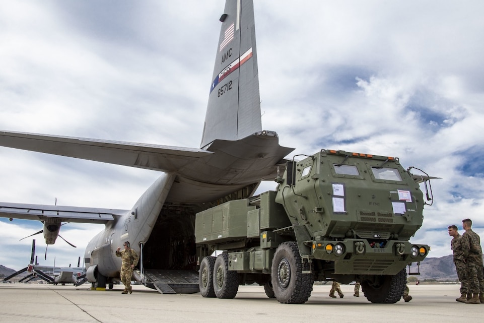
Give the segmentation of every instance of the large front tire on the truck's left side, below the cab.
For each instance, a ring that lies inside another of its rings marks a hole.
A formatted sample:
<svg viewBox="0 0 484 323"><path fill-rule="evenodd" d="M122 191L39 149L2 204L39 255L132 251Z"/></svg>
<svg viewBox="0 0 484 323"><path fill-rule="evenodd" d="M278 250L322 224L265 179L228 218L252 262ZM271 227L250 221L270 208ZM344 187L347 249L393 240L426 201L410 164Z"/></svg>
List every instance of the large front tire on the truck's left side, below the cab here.
<svg viewBox="0 0 484 323"><path fill-rule="evenodd" d="M303 304L311 296L314 277L303 274L310 264L303 264L296 242L284 242L275 250L271 282L275 298L284 304Z"/></svg>

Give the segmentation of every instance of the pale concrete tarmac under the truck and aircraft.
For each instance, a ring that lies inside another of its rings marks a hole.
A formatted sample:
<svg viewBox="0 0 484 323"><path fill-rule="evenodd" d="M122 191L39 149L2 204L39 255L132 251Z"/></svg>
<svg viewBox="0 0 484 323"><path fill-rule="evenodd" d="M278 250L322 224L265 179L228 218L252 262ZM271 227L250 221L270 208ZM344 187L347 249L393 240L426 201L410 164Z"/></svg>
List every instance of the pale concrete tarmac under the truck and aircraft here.
<svg viewBox="0 0 484 323"><path fill-rule="evenodd" d="M162 295L145 286L121 294L46 284L0 284L1 322L480 322L484 304L458 303L459 285L409 285L413 299L372 304L352 285L341 285L343 298L328 297L330 285L314 286L305 304L280 304L260 286L240 286L235 299L200 294Z"/></svg>

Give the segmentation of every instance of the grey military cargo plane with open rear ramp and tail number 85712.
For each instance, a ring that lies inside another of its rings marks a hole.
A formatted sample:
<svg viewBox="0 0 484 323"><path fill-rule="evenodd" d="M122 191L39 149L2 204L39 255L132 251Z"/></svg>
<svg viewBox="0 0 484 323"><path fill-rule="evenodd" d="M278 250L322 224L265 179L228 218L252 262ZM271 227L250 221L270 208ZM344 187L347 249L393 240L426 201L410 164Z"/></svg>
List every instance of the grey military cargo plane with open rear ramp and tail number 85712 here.
<svg viewBox="0 0 484 323"><path fill-rule="evenodd" d="M41 221L47 244L55 243L62 223L104 223L84 255L93 288L119 279L114 251L129 240L141 254L136 278L145 285L198 291L195 214L250 197L294 150L262 130L253 2L227 0L220 21L200 148L0 131L4 147L163 172L130 210L0 203L2 217Z"/></svg>

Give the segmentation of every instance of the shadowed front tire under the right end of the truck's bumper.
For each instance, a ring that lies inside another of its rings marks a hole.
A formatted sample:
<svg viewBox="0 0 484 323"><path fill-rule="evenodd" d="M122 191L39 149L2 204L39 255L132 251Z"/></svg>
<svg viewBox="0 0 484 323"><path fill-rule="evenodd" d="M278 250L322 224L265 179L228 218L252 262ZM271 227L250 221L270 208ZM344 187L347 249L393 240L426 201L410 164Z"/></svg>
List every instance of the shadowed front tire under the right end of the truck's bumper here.
<svg viewBox="0 0 484 323"><path fill-rule="evenodd" d="M396 303L400 300L406 284L406 272L402 269L396 275L380 275L374 282L362 281L361 289L372 303Z"/></svg>

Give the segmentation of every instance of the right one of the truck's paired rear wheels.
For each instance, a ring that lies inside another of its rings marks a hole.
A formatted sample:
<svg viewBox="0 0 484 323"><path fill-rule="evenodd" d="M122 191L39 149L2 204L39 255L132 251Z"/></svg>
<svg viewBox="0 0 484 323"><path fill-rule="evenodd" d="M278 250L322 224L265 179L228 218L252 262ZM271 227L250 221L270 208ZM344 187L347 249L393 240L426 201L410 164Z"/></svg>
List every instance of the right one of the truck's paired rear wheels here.
<svg viewBox="0 0 484 323"><path fill-rule="evenodd" d="M229 255L219 254L214 266L214 291L217 298L234 298L239 290L239 274L229 270Z"/></svg>

